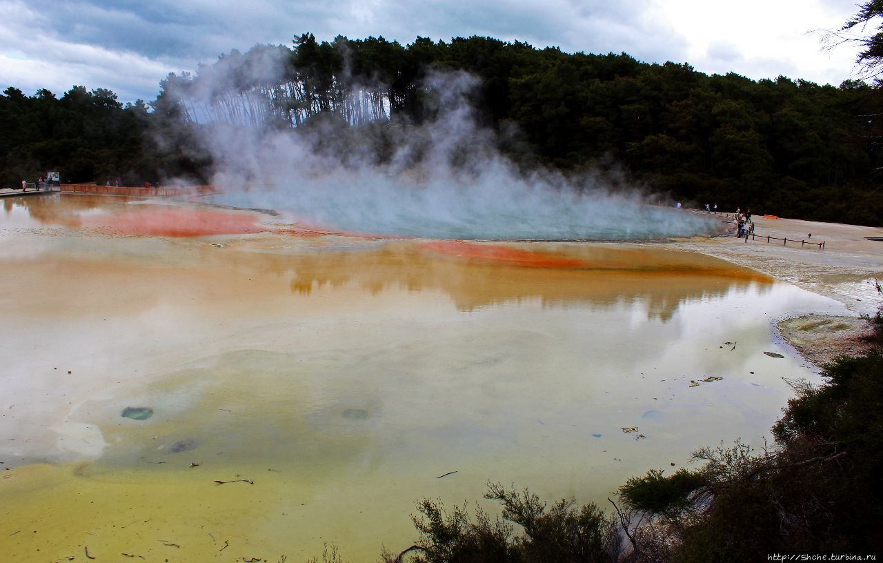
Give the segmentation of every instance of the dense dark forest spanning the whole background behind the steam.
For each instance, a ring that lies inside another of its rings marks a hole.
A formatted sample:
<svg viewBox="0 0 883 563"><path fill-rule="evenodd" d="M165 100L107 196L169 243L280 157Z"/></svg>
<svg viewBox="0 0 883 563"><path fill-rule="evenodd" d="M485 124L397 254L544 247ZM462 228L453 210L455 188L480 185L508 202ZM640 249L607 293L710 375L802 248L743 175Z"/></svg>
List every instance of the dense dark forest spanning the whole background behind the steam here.
<svg viewBox="0 0 883 563"><path fill-rule="evenodd" d="M198 130L209 121L292 135L329 120L395 131L438 118L428 73L461 70L477 78L469 100L479 124L523 167L622 168L633 183L697 206L883 224L871 117L879 93L864 82L708 76L689 64L487 37L401 45L303 34L291 49L256 46L170 74L147 104L81 86L61 98L10 87L0 97L0 184L47 169L72 182L205 182L211 157Z"/></svg>

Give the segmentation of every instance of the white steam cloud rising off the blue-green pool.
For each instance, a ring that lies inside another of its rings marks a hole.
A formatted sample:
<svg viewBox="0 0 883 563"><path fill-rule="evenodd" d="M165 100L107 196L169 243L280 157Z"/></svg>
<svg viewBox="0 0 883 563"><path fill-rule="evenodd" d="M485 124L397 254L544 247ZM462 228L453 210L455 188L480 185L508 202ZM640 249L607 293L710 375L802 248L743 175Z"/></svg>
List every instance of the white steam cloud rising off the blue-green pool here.
<svg viewBox="0 0 883 563"><path fill-rule="evenodd" d="M646 195L623 189L621 179L518 169L477 124L468 102L475 86L464 72L430 75L422 91L434 118L419 125L352 126L322 115L301 131L207 124L213 183L222 191L214 201L287 211L309 226L443 239L645 239L719 228L699 214L646 205ZM200 89L225 87L203 80Z"/></svg>

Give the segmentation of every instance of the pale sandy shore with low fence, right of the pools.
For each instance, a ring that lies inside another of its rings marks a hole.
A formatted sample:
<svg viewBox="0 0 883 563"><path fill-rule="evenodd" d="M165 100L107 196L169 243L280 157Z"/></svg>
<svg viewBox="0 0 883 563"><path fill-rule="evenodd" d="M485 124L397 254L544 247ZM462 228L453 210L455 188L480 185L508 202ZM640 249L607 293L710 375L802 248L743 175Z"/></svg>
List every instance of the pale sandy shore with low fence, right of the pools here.
<svg viewBox="0 0 883 563"><path fill-rule="evenodd" d="M698 251L748 266L776 279L845 304L855 316L804 315L781 319L776 327L781 337L807 361L823 365L842 355L862 354L871 327L859 318L872 315L883 297L874 281L883 280L883 228L755 217L755 239L745 242L736 236L691 238L671 243L685 251ZM809 235L812 235L811 237ZM766 236L825 241L825 250L799 242L766 242Z"/></svg>

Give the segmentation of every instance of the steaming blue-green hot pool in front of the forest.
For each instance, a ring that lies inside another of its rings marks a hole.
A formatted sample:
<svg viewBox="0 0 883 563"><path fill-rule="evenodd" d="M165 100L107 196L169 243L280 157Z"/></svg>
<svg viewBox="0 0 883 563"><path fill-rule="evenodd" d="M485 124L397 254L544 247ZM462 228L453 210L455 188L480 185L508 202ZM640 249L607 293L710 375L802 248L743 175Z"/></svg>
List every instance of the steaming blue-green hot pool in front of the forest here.
<svg viewBox="0 0 883 563"><path fill-rule="evenodd" d="M707 214L651 206L605 192L550 191L531 184L430 184L389 188L356 180L215 193L224 206L274 209L307 226L349 233L464 240L646 240L713 235L721 222ZM396 184L392 184L396 185ZM347 187L343 187L347 186Z"/></svg>

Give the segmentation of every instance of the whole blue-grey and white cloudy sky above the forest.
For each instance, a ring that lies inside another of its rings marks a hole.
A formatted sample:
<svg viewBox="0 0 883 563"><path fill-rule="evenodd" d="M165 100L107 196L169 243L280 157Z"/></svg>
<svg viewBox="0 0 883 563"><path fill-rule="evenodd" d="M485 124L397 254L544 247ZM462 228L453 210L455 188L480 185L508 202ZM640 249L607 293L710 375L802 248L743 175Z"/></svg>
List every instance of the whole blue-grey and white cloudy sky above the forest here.
<svg viewBox="0 0 883 563"><path fill-rule="evenodd" d="M290 46L305 32L403 43L490 35L838 85L854 74L855 50L826 51L814 32L855 11L856 0L0 0L0 88L78 84L153 100L170 71L257 42Z"/></svg>

